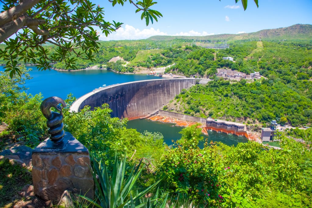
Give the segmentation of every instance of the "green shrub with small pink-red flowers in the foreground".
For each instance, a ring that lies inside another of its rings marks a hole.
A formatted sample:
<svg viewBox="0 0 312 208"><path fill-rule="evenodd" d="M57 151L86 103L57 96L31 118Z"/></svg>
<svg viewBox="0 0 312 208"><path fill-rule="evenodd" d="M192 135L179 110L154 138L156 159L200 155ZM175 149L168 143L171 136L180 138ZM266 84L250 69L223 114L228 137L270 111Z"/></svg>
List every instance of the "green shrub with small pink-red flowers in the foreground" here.
<svg viewBox="0 0 312 208"><path fill-rule="evenodd" d="M218 181L222 169L215 166L219 156L215 143L208 146L206 141L200 149L198 140L193 134L188 141L174 143L173 148L168 149L159 175L171 193L188 197L195 203L216 205L224 200L218 193L222 187Z"/></svg>

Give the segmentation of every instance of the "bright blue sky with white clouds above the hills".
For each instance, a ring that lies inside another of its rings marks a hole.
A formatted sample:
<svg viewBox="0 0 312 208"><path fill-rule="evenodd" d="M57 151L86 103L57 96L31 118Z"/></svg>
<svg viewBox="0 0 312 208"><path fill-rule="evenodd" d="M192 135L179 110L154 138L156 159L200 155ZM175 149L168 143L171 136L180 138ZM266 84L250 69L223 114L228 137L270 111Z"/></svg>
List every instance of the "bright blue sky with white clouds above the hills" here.
<svg viewBox="0 0 312 208"><path fill-rule="evenodd" d="M235 0L156 0L151 7L163 14L154 24L145 25L135 7L126 2L122 7L105 0L95 1L105 7L105 20L123 22L122 28L101 40L145 39L153 35L205 36L237 34L263 29L312 24L312 0L259 0L259 8L248 1L244 11ZM312 38L312 37L311 37Z"/></svg>

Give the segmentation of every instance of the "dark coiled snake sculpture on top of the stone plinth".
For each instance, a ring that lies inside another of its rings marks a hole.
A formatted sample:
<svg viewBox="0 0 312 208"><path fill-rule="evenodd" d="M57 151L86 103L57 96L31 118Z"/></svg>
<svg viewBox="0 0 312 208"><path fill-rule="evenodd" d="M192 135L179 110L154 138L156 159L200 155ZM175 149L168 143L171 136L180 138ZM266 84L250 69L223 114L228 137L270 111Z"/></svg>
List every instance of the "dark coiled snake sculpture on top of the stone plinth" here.
<svg viewBox="0 0 312 208"><path fill-rule="evenodd" d="M62 106L61 106L62 104ZM51 111L50 108L54 107L58 112ZM66 103L59 97L49 97L42 101L40 109L44 117L48 119L46 125L49 127L48 133L50 134L50 140L55 144L59 144L63 141L64 137L64 124L62 109L66 107Z"/></svg>

